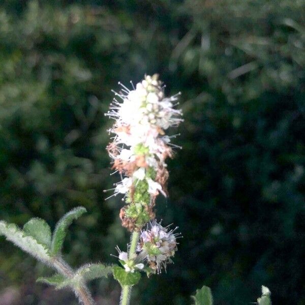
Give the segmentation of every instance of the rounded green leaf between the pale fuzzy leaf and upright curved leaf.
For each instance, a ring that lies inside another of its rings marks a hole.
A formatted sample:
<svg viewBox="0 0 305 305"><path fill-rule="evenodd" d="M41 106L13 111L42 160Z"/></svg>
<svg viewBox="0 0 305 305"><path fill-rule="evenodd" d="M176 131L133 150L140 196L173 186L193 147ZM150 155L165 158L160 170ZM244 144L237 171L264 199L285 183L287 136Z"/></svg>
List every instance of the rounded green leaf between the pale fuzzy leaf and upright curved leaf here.
<svg viewBox="0 0 305 305"><path fill-rule="evenodd" d="M23 226L23 231L32 235L38 242L43 243L50 248L51 229L43 219L32 218Z"/></svg>

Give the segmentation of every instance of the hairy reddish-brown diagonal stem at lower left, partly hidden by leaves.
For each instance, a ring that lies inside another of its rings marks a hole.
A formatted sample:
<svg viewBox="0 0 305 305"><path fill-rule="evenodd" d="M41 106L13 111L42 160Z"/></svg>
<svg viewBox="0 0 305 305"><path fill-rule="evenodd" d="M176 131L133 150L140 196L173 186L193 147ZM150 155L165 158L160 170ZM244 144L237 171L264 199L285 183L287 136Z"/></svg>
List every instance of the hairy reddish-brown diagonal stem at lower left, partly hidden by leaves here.
<svg viewBox="0 0 305 305"><path fill-rule="evenodd" d="M73 269L62 259L55 258L53 260L53 267L62 275L67 278L72 278L74 275ZM73 288L76 297L78 298L80 304L83 305L95 305L95 301L90 294L88 288L85 285Z"/></svg>

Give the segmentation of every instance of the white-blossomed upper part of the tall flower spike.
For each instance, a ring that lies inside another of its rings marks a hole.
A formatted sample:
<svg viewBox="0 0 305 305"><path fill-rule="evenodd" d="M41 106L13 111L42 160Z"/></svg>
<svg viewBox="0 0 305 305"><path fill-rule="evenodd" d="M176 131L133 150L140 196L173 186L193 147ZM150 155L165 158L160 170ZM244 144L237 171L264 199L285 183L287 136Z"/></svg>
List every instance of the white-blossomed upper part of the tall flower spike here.
<svg viewBox="0 0 305 305"><path fill-rule="evenodd" d="M180 93L169 98L164 97L164 87L157 75L145 76L132 90L120 85L121 91L115 93L116 98L106 115L115 119L110 132L115 134L113 146L116 150L109 151L114 160L113 168L133 178L128 181L123 179L116 186L114 193L126 194L132 186L132 181L145 179L147 166L156 172L159 168L166 168L165 159L172 155L172 147L178 146L170 142L165 130L177 126L182 120L182 113L181 110L175 109ZM118 98L121 101L118 101ZM147 149L137 150L139 146ZM147 178L147 182L148 193L153 196L162 193L166 196L165 190L162 189L164 181L162 186L159 181L150 178Z"/></svg>

